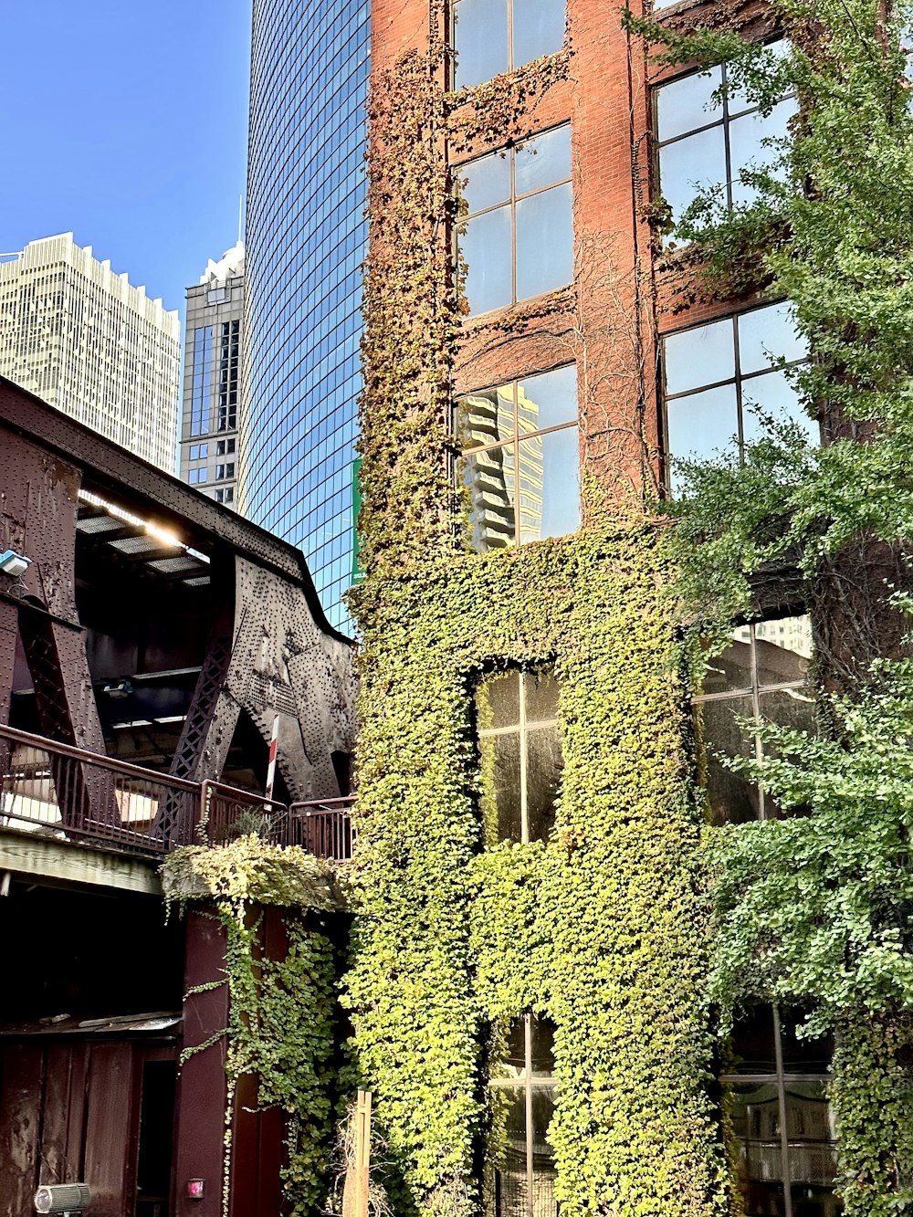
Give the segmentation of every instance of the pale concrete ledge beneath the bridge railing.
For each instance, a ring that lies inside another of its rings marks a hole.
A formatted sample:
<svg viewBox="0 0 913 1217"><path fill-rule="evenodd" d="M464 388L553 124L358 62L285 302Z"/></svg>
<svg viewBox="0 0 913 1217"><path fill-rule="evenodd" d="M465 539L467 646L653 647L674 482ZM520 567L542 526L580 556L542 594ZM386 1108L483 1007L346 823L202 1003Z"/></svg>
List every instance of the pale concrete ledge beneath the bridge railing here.
<svg viewBox="0 0 913 1217"><path fill-rule="evenodd" d="M110 853L35 832L0 829L0 871L161 896L158 862Z"/></svg>

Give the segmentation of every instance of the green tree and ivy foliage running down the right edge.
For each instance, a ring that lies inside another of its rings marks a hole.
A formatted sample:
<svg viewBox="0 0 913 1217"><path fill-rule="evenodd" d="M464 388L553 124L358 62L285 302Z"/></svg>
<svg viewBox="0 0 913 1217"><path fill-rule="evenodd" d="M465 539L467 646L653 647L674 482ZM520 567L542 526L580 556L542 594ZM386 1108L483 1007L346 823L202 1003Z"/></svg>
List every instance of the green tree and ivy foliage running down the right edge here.
<svg viewBox="0 0 913 1217"><path fill-rule="evenodd" d="M913 114L901 50L912 11L773 7L790 39L779 58L732 33L629 24L666 40L666 62L726 58L730 88L763 111L788 88L799 97L773 172L743 175L757 202L728 213L705 197L677 235L700 248L711 285L732 285L746 259L755 287L792 302L812 358L790 375L824 443L803 449L794 428L763 420L766 437L744 453L685 465L668 512L680 601L717 641L750 611L764 563L791 560L807 579L822 736L762 725L774 758L735 765L801 814L716 839L712 986L727 1009L812 1003L808 1030L835 1032L841 1195L851 1217L880 1217L913 1205L913 669L897 658L891 600L913 535Z"/></svg>

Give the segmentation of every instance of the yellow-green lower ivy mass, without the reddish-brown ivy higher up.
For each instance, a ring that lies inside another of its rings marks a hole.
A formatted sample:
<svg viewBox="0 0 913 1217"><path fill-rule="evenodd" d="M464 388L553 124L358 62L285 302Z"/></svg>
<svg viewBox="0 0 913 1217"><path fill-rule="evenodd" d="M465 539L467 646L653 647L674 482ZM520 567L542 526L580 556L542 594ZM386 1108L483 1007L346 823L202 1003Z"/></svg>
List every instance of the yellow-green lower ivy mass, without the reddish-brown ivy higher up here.
<svg viewBox="0 0 913 1217"><path fill-rule="evenodd" d="M662 567L649 528L587 529L455 555L433 576L369 574L353 598L364 649L347 1002L399 1212L474 1210L480 1140L498 1142L489 1028L530 1009L556 1023L562 1208L728 1211L700 1003L700 814ZM549 661L565 759L555 831L483 849L472 689L493 668Z"/></svg>

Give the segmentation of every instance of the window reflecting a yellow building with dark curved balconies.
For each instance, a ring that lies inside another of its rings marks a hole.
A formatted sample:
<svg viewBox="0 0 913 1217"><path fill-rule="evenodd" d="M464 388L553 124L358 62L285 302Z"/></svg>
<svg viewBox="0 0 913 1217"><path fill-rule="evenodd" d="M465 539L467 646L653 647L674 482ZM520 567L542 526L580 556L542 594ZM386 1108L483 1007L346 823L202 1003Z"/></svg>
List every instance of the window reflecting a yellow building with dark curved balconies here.
<svg viewBox="0 0 913 1217"><path fill-rule="evenodd" d="M576 364L467 393L456 402L454 430L477 550L577 529Z"/></svg>

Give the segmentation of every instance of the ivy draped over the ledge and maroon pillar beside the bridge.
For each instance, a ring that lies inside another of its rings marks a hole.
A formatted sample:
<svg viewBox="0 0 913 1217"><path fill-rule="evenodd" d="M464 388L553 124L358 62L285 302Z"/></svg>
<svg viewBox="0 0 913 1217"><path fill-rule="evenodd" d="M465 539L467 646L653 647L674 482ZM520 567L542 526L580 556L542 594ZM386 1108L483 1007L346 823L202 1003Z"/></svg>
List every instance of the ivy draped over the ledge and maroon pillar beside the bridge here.
<svg viewBox="0 0 913 1217"><path fill-rule="evenodd" d="M169 907L214 904L225 926L225 1205L239 1083L253 1077L258 1110L279 1107L285 1117L289 1212L313 1213L326 1193L332 1142L336 966L320 920L338 907L330 871L297 846L270 846L252 834L215 848L177 849L162 867L162 886ZM264 950L267 905L284 910L282 958Z"/></svg>

